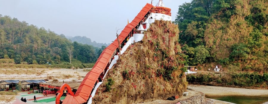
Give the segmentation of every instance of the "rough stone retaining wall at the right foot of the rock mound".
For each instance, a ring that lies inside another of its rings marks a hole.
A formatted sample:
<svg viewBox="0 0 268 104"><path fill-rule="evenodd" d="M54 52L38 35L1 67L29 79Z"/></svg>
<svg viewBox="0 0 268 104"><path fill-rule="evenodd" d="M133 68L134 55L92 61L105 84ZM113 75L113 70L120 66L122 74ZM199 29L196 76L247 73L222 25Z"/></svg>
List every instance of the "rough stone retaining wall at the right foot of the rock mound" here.
<svg viewBox="0 0 268 104"><path fill-rule="evenodd" d="M214 104L214 102L210 99L205 98L205 94L202 93L197 96L181 100L180 104Z"/></svg>

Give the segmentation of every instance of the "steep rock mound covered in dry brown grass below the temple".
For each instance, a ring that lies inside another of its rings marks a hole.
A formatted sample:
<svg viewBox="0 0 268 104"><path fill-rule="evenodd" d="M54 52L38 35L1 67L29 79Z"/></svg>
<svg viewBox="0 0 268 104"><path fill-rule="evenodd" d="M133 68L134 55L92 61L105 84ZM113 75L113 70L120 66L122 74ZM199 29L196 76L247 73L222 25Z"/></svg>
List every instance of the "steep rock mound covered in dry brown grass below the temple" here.
<svg viewBox="0 0 268 104"><path fill-rule="evenodd" d="M93 103L130 104L182 96L188 83L181 70L184 60L178 33L178 26L170 21L152 23L144 39L130 46L109 70ZM106 86L108 78L113 85Z"/></svg>

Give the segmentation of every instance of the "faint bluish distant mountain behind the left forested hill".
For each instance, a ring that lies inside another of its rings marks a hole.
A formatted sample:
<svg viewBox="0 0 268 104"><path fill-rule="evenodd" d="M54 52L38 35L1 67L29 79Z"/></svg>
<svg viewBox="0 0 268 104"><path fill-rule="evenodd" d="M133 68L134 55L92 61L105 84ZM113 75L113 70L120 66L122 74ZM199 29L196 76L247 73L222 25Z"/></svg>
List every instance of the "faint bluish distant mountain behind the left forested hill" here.
<svg viewBox="0 0 268 104"><path fill-rule="evenodd" d="M66 38L68 40L71 40L72 42L76 41L78 43L82 43L82 44L88 44L88 45L92 45L94 47L98 47L98 48L102 48L102 46L107 47L108 44L106 43L97 43L96 41L91 42L91 39L88 37L81 37L81 36L75 36L75 37L71 37L71 36L66 36Z"/></svg>

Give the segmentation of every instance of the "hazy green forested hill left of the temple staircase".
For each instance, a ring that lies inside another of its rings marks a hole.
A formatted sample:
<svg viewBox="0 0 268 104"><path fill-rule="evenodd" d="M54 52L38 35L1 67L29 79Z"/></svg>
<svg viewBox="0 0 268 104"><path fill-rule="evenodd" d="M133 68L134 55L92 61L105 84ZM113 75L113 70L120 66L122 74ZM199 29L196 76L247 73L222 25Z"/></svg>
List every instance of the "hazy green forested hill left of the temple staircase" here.
<svg viewBox="0 0 268 104"><path fill-rule="evenodd" d="M69 41L63 34L0 15L0 59L16 64L94 63L105 47Z"/></svg>

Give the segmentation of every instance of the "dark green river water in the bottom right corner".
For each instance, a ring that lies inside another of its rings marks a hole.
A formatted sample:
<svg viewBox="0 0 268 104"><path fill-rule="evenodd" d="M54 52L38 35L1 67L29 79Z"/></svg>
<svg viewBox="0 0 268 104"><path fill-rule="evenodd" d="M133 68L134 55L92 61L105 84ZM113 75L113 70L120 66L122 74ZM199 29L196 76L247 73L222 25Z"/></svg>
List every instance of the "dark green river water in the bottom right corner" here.
<svg viewBox="0 0 268 104"><path fill-rule="evenodd" d="M236 104L261 104L268 101L268 95L260 96L211 96L206 95L206 98L227 101Z"/></svg>

